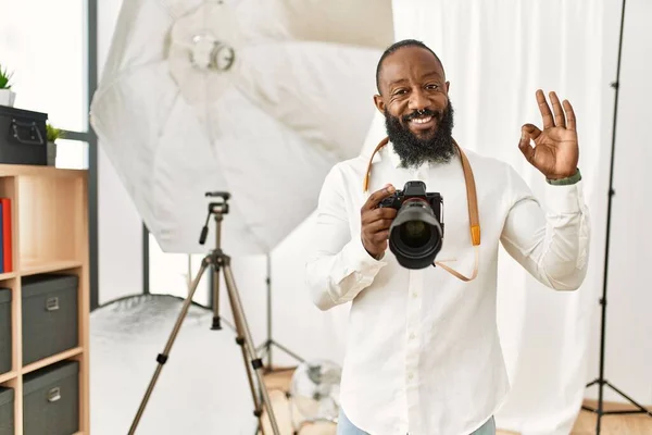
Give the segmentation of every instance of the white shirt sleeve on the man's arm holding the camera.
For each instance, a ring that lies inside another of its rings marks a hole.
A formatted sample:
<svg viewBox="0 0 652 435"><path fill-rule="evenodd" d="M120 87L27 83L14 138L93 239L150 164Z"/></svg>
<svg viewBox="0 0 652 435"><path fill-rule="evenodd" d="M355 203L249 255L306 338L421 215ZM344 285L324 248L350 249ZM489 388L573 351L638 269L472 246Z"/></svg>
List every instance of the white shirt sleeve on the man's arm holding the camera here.
<svg viewBox="0 0 652 435"><path fill-rule="evenodd" d="M310 232L305 282L313 302L321 310L351 301L386 265L367 253L360 234L351 234L350 219L355 214L360 219L360 210L347 210L344 189L335 166L322 186L316 222Z"/></svg>

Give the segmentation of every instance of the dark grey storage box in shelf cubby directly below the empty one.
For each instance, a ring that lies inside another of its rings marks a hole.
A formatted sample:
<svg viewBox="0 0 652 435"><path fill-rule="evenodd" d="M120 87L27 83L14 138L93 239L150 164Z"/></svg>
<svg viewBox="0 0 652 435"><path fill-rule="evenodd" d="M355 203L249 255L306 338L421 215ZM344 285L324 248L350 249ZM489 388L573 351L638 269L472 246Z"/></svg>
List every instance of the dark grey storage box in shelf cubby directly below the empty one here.
<svg viewBox="0 0 652 435"><path fill-rule="evenodd" d="M23 278L23 365L78 346L77 286L76 275Z"/></svg>

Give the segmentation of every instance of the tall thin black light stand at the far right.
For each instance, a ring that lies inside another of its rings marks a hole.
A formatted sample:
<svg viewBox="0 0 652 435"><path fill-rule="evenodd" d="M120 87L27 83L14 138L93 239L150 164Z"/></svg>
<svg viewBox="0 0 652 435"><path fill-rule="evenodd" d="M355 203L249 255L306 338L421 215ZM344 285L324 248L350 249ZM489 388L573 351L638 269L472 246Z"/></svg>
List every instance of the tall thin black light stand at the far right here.
<svg viewBox="0 0 652 435"><path fill-rule="evenodd" d="M618 113L618 90L620 84L620 55L623 50L623 30L625 24L625 0L623 0L623 10L620 16L620 38L618 42L618 63L616 70L616 82L612 83L612 87L616 90L615 102L614 102L614 120L613 120L613 132L612 132L612 148L611 148L611 169L609 176L609 204L606 211L606 247L604 250L604 276L602 282L602 298L600 299L600 304L602 306L602 320L601 320L601 332L600 332L600 374L599 377L591 381L587 384L587 388L593 385L598 385L598 408L591 408L587 406L582 406L581 408L586 411L591 411L598 414L598 422L595 423L595 434L600 434L600 425L602 415L609 414L637 414L637 413L645 413L652 417L652 412L647 410L642 405L636 402L632 398L627 396L620 389L616 388L609 381L604 378L604 336L606 328L606 283L607 283L607 271L609 271L609 245L610 245L610 234L611 234L611 212L612 212L612 198L615 194L613 188L614 183L614 151L616 146L616 120ZM636 410L613 410L605 411L603 406L603 389L604 386L610 387L615 393L627 399L630 403L636 406L638 409Z"/></svg>

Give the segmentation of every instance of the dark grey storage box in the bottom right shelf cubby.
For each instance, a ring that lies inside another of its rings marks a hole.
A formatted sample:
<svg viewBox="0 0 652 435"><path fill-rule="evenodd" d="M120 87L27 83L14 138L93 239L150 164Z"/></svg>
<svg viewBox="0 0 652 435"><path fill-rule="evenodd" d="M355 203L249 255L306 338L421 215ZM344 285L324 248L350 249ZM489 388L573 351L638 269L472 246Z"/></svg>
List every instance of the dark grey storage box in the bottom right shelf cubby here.
<svg viewBox="0 0 652 435"><path fill-rule="evenodd" d="M61 361L23 376L23 434L79 431L79 363Z"/></svg>

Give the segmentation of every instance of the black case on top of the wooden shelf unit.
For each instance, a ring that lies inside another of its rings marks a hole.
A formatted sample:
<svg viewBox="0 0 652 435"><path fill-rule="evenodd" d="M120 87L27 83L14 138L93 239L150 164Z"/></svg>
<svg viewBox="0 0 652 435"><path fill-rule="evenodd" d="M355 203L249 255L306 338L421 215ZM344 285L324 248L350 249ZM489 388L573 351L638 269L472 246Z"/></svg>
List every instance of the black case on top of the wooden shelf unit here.
<svg viewBox="0 0 652 435"><path fill-rule="evenodd" d="M0 105L0 163L48 163L46 113Z"/></svg>

